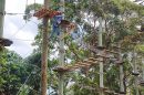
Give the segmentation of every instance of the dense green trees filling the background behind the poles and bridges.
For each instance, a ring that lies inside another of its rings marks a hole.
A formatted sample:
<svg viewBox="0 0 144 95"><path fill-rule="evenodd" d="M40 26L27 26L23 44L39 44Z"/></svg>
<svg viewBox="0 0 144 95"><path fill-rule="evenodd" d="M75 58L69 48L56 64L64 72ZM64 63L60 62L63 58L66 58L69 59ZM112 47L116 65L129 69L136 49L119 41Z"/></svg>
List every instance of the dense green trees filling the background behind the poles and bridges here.
<svg viewBox="0 0 144 95"><path fill-rule="evenodd" d="M50 8L59 10L60 0L51 0ZM29 4L24 20L42 4ZM64 36L64 63L74 65L88 57L97 57L100 18L102 19L102 43L113 51L110 59L103 59L104 95L121 95L120 64L115 62L121 53L123 61L123 86L126 94L144 95L144 6L143 0L65 0L64 18L76 28ZM53 20L49 22L49 35L53 33ZM17 53L2 49L0 54L0 95L40 95L42 23L32 45L33 53L22 59ZM49 40L48 92L58 95L59 35ZM114 46L121 45L121 51ZM97 64L64 73L64 95L100 95L100 66Z"/></svg>

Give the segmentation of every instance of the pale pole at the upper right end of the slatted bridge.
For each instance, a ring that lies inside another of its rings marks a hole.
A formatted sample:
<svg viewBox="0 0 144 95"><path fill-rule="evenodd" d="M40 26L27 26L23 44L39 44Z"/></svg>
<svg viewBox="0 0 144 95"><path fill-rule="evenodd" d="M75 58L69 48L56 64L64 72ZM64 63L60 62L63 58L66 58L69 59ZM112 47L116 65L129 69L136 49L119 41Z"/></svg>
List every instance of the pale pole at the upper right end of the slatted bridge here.
<svg viewBox="0 0 144 95"><path fill-rule="evenodd" d="M100 23L100 30L99 30L99 46L103 46L102 44L102 18L99 19L99 23ZM100 51L100 54L102 54L103 52ZM102 57L100 60L103 60ZM103 94L103 62L100 62L100 88L102 88L102 91L100 92L100 95L104 95Z"/></svg>

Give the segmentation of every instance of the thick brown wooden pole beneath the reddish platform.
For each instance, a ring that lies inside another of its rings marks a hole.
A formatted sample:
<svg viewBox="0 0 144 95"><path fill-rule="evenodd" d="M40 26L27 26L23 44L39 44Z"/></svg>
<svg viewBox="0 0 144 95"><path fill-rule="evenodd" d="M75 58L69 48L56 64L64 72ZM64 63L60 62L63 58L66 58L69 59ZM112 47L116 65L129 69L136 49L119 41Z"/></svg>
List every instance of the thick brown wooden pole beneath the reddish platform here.
<svg viewBox="0 0 144 95"><path fill-rule="evenodd" d="M50 1L44 0L44 8L49 9ZM43 32L42 32L42 61L41 61L41 95L48 95L48 18L43 18Z"/></svg>

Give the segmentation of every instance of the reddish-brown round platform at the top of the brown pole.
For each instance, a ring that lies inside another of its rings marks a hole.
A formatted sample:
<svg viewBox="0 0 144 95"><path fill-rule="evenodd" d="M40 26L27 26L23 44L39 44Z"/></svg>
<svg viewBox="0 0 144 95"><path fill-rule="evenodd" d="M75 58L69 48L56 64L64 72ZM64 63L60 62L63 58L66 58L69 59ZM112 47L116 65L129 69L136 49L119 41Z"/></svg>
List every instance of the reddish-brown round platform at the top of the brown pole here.
<svg viewBox="0 0 144 95"><path fill-rule="evenodd" d="M62 14L62 12L42 8L39 11L37 11L33 14L33 17L37 17L38 19L42 19L42 18L47 17L48 19L51 19L51 18L59 15L59 14Z"/></svg>

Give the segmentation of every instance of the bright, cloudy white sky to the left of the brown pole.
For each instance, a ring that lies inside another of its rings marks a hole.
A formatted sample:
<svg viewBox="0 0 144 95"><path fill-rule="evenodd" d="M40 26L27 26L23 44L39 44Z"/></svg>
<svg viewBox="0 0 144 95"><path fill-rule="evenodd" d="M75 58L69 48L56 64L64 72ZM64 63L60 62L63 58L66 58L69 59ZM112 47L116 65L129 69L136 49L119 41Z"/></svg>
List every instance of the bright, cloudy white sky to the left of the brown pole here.
<svg viewBox="0 0 144 95"><path fill-rule="evenodd" d="M43 3L43 0L35 0L35 2ZM28 0L28 4L34 3L34 0ZM27 0L6 0L7 13L24 13ZM22 14L4 17L3 24L3 38L13 41L13 44L9 46L9 50L16 51L22 57L27 57L32 53L34 49L31 43L38 33L37 18L32 18L31 21L25 22Z"/></svg>

